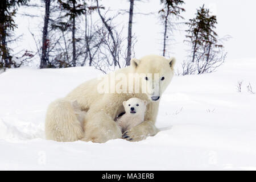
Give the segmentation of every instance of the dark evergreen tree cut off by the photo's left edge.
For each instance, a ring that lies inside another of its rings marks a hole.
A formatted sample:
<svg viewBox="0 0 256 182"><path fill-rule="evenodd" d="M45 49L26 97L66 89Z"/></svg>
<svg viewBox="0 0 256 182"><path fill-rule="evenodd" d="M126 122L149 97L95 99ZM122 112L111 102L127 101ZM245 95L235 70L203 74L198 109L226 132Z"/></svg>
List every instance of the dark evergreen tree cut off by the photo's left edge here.
<svg viewBox="0 0 256 182"><path fill-rule="evenodd" d="M7 46L11 33L17 25L14 22L14 16L17 8L24 5L28 0L1 0L0 3L0 68L11 68L15 65L10 55L10 48Z"/></svg>

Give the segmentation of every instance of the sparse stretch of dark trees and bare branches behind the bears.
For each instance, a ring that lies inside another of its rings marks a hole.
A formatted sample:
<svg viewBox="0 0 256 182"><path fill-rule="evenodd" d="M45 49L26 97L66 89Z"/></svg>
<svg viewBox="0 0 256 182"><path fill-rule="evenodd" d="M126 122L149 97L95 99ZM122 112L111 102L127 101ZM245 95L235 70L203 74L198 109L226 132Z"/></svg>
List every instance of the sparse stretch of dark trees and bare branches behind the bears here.
<svg viewBox="0 0 256 182"><path fill-rule="evenodd" d="M138 2L142 5L151 3L129 1L129 7L114 11L105 7L104 1L98 0L2 1L0 69L24 65L37 68L89 66L108 73L126 67L137 52L133 16L143 14L134 11ZM185 1L160 0L159 4L160 9L143 14L154 14L162 27L158 35L161 47L158 54L170 56L173 53L170 46L175 42L176 31L185 32L183 41L190 47L178 75L213 72L224 63L227 53L223 44L228 36L218 37L217 17L209 8L202 4L193 16L185 20ZM40 11L42 15L38 13ZM22 35L15 33L21 23L15 21L17 14L23 19L41 19L38 30L27 28L36 49L16 48L15 43L23 39ZM128 16L126 20L122 17L125 14ZM185 30L181 30L181 26Z"/></svg>

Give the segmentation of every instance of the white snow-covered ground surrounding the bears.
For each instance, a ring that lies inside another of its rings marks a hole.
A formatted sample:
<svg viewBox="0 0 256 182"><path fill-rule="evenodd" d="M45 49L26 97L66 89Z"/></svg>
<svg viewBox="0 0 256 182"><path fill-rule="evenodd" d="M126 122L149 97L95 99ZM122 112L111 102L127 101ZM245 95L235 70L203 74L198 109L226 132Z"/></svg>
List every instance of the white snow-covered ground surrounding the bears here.
<svg viewBox="0 0 256 182"><path fill-rule="evenodd" d="M9 69L0 75L0 169L256 170L256 60L176 76L160 103L155 137L141 142L44 139L49 102L100 75L93 68ZM237 82L243 81L242 92Z"/></svg>

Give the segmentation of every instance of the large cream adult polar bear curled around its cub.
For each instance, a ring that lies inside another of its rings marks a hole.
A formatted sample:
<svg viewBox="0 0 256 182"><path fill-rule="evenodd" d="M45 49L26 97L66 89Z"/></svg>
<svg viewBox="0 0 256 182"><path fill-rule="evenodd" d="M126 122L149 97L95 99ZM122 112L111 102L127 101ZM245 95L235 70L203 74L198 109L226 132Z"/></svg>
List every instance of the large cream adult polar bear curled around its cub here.
<svg viewBox="0 0 256 182"><path fill-rule="evenodd" d="M162 93L170 84L174 75L175 59L169 60L162 56L149 55L142 59L132 59L131 65L126 68L118 69L118 73L152 74L152 79L144 77L139 81L141 87L142 79L152 83L152 80L158 82L159 92L152 86L150 92L142 93L99 93L97 78L89 80L75 88L65 98L53 101L46 114L46 139L60 142L72 142L76 140L92 141L104 143L110 139L122 138L122 133L114 121L115 117L123 113L123 101L132 97L147 100L147 110L144 122L125 132L125 139L139 141L154 136L158 133L155 127L156 116L158 114L159 101ZM135 74L135 75L139 75ZM158 75L154 77L154 75ZM158 80L156 80L158 79ZM117 83L115 83L116 85ZM135 83L136 84L136 83ZM128 85L127 85L128 87ZM82 110L87 111L84 126L76 117L72 107L72 102L77 101Z"/></svg>

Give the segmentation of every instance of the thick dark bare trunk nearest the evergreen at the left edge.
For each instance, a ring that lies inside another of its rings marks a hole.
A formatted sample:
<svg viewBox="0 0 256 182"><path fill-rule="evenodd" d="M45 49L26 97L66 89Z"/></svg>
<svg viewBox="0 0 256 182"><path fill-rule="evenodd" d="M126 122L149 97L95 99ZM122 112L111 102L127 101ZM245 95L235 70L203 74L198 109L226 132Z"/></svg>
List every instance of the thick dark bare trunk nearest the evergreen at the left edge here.
<svg viewBox="0 0 256 182"><path fill-rule="evenodd" d="M43 45L42 45L42 57L40 68L47 68L47 63L49 61L49 57L47 56L47 35L48 35L48 24L49 24L49 8L51 0L45 0L46 2L46 13L44 15L44 28L43 28Z"/></svg>

